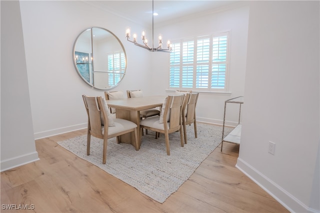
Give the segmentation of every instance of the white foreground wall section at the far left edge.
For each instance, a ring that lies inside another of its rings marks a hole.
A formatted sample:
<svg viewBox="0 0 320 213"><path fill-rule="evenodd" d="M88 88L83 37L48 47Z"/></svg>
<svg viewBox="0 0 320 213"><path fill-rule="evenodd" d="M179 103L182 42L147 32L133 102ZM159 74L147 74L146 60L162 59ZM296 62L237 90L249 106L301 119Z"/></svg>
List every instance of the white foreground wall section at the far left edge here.
<svg viewBox="0 0 320 213"><path fill-rule="evenodd" d="M1 1L0 170L38 159L18 1Z"/></svg>

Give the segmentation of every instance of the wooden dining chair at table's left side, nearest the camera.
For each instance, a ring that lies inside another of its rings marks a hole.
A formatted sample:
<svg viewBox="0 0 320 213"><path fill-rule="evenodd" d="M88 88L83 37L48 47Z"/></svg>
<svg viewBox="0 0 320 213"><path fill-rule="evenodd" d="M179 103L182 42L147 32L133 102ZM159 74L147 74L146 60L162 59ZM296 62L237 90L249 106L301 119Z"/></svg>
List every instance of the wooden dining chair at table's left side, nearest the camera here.
<svg viewBox="0 0 320 213"><path fill-rule="evenodd" d="M86 155L90 154L91 135L103 139L102 163L105 164L107 140L131 131L134 131L134 146L135 150L138 150L138 132L134 122L121 118L113 119L105 99L101 96L82 95L82 98L88 115Z"/></svg>

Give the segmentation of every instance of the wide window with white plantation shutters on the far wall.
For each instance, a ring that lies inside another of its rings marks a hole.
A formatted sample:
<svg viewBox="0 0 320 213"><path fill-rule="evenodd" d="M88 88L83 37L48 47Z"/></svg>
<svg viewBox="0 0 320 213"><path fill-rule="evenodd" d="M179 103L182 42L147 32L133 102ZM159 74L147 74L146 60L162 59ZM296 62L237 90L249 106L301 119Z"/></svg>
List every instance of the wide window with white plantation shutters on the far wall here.
<svg viewBox="0 0 320 213"><path fill-rule="evenodd" d="M229 33L172 43L169 88L226 91Z"/></svg>

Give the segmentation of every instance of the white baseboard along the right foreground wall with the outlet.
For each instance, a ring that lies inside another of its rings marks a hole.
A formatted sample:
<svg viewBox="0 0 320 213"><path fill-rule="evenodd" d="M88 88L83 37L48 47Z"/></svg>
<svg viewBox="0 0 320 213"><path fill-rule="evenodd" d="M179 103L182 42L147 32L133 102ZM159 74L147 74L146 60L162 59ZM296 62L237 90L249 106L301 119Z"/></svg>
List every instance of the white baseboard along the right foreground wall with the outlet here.
<svg viewBox="0 0 320 213"><path fill-rule="evenodd" d="M248 176L261 188L263 188L268 194L270 194L275 200L277 200L290 212L317 212L314 209L307 207L300 200L281 188L268 177L264 176L262 173L260 173L258 170L253 168L241 158L237 159L235 167L241 170L246 176Z"/></svg>

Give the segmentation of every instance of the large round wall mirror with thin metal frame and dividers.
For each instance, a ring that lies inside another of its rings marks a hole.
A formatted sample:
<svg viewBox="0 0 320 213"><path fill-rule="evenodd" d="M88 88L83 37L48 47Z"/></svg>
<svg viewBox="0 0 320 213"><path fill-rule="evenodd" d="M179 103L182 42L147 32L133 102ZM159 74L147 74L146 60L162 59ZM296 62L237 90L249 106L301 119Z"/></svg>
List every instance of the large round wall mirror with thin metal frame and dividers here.
<svg viewBox="0 0 320 213"><path fill-rule="evenodd" d="M121 41L112 32L91 27L76 38L73 63L84 82L97 89L110 89L125 74L126 54Z"/></svg>

